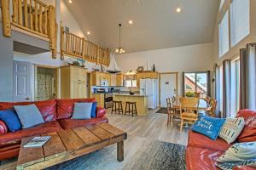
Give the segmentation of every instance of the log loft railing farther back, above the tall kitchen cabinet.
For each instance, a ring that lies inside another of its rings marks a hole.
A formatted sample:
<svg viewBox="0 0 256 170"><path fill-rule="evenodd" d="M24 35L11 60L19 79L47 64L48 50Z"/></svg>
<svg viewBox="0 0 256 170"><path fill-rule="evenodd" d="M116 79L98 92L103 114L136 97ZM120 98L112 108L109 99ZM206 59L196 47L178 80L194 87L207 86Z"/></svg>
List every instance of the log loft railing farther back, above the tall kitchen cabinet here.
<svg viewBox="0 0 256 170"><path fill-rule="evenodd" d="M96 44L86 41L84 37L64 31L61 26L61 59L64 59L64 54L102 65L109 65L110 61L108 48L100 48Z"/></svg>

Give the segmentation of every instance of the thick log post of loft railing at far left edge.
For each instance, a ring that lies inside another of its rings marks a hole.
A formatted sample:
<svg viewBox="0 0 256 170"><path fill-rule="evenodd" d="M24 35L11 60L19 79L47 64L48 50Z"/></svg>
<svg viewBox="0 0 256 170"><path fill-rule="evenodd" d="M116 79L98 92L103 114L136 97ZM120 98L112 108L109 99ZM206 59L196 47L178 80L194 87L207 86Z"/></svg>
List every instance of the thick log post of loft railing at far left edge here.
<svg viewBox="0 0 256 170"><path fill-rule="evenodd" d="M11 24L10 24L10 14L9 14L9 0L1 1L2 7L2 19L3 19L3 36L11 36Z"/></svg>

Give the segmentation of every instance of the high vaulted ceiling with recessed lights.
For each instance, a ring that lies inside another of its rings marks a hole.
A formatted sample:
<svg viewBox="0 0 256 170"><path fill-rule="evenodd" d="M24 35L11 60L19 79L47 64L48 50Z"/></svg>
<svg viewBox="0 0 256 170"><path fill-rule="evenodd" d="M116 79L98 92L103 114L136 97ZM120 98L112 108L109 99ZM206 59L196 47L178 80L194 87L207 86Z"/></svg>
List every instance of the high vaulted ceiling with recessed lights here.
<svg viewBox="0 0 256 170"><path fill-rule="evenodd" d="M91 42L127 53L212 42L219 0L73 0L67 7ZM176 12L181 8L181 13ZM133 20L129 25L128 20Z"/></svg>

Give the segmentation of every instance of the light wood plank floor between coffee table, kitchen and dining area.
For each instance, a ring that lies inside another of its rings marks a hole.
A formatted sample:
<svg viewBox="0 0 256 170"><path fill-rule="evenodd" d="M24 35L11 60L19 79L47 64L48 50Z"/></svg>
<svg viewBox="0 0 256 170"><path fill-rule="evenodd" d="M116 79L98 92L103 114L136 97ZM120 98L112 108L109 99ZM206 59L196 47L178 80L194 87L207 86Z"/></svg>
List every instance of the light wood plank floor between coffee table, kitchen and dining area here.
<svg viewBox="0 0 256 170"><path fill-rule="evenodd" d="M147 145L155 140L174 144L187 144L188 129L184 128L183 132L179 133L179 122L177 121L172 122L171 125L167 127L166 114L149 111L147 116L124 116L111 114L109 110L107 112L109 123L128 133L128 138L125 140L125 160L122 162L116 161L116 145L113 144L112 146L108 146L96 152L96 154L103 157L100 159L101 163L95 164L91 169L132 169L137 159L143 155L143 150L147 150ZM108 153L108 156L105 156L106 153ZM0 166L0 170L15 169L16 161L16 159L4 161L3 165Z"/></svg>

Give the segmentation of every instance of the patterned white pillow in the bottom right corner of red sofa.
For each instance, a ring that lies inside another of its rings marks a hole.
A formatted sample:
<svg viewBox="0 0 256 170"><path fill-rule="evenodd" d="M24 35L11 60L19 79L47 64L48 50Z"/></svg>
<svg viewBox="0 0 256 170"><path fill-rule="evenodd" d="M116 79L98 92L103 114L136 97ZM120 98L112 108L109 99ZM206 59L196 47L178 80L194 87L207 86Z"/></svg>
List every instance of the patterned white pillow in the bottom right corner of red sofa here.
<svg viewBox="0 0 256 170"><path fill-rule="evenodd" d="M219 156L218 162L247 161L256 159L256 142L236 143L230 146L222 156Z"/></svg>

